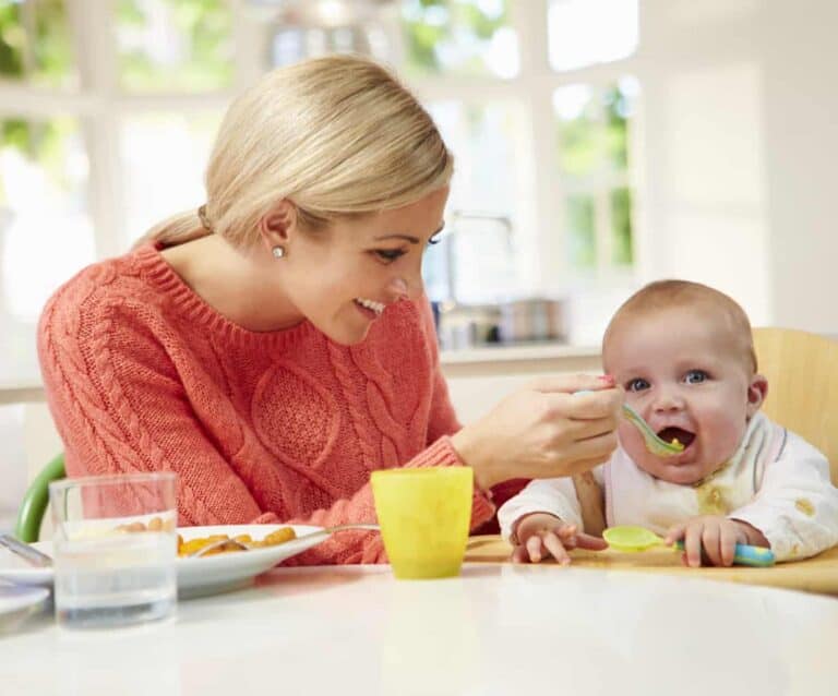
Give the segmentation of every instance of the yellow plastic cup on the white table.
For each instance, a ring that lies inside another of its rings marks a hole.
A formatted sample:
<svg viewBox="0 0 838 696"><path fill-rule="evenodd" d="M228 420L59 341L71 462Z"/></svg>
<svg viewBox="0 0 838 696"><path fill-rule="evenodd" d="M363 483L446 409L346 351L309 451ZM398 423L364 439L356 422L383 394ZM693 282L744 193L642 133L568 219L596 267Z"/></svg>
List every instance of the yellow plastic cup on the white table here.
<svg viewBox="0 0 838 696"><path fill-rule="evenodd" d="M459 575L471 521L471 468L385 469L373 471L371 483L393 575Z"/></svg>

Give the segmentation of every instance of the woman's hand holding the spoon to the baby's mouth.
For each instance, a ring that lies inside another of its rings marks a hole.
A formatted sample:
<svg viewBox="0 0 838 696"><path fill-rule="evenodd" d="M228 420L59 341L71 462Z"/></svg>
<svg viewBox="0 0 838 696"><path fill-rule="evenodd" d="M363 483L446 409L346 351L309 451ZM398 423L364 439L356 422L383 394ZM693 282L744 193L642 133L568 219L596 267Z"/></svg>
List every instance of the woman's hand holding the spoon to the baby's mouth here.
<svg viewBox="0 0 838 696"><path fill-rule="evenodd" d="M574 395L580 391L591 393ZM616 447L623 397L608 376L536 380L453 435L452 444L483 490L508 479L572 476Z"/></svg>

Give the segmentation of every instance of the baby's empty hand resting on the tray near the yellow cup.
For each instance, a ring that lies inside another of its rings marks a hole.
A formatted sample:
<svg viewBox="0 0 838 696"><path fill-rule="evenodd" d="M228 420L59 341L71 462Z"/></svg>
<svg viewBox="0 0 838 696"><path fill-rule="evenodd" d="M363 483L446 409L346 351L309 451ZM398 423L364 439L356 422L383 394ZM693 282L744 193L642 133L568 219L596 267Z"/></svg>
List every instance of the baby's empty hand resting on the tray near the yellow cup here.
<svg viewBox="0 0 838 696"><path fill-rule="evenodd" d="M602 539L577 532L576 525L568 525L548 513L522 517L515 526L515 537L512 551L515 563L539 563L542 559L553 556L560 565L568 565L568 549L601 551L608 547Z"/></svg>

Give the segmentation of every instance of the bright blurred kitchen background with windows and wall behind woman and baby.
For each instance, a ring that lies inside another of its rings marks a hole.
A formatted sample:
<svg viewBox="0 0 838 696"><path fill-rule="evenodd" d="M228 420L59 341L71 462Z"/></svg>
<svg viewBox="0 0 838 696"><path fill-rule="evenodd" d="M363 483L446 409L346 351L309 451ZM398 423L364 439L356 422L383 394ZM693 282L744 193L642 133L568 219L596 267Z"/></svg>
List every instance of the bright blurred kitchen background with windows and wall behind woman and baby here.
<svg viewBox="0 0 838 696"><path fill-rule="evenodd" d="M455 154L424 264L446 364L595 357L661 277L836 335L836 26L834 0L0 0L0 403L43 400L59 284L204 201L231 97L325 52L392 64ZM0 433L40 437L21 413Z"/></svg>

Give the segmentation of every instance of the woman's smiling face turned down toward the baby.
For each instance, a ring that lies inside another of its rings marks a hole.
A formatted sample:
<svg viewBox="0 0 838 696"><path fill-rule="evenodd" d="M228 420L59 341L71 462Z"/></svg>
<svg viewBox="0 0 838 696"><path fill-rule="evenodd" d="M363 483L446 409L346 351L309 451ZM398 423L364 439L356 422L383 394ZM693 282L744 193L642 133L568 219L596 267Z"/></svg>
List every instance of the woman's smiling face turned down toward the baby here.
<svg viewBox="0 0 838 696"><path fill-rule="evenodd" d="M292 228L286 255L275 262L284 293L332 340L362 341L390 304L422 292L422 253L442 228L447 197L445 187L321 231Z"/></svg>

